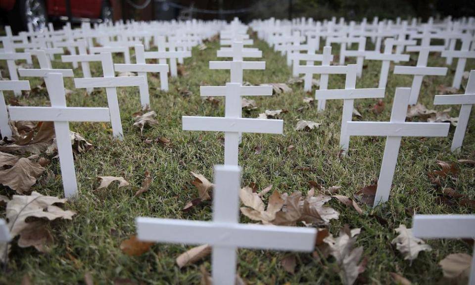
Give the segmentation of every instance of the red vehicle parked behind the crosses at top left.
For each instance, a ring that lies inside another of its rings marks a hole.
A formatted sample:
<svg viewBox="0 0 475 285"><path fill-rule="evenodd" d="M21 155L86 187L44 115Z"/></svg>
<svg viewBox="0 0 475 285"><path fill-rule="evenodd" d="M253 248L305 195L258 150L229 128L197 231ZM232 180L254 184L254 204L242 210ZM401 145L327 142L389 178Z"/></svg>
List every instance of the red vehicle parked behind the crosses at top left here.
<svg viewBox="0 0 475 285"><path fill-rule="evenodd" d="M91 19L107 22L112 20L112 0L0 0L1 14L13 31L42 30L48 19L68 19L70 8L73 21ZM6 17L5 17L6 16Z"/></svg>

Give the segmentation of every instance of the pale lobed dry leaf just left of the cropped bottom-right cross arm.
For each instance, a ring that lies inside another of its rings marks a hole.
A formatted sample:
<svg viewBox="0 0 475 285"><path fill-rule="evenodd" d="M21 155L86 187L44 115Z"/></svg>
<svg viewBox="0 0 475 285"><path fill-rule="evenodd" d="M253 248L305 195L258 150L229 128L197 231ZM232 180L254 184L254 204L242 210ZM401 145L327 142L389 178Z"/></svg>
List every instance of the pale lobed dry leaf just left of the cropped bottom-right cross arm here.
<svg viewBox="0 0 475 285"><path fill-rule="evenodd" d="M432 248L426 244L424 240L414 237L412 229L406 228L401 224L397 229L394 229L399 235L394 238L391 243L396 244L396 249L404 254L404 259L414 260L421 251L430 251Z"/></svg>

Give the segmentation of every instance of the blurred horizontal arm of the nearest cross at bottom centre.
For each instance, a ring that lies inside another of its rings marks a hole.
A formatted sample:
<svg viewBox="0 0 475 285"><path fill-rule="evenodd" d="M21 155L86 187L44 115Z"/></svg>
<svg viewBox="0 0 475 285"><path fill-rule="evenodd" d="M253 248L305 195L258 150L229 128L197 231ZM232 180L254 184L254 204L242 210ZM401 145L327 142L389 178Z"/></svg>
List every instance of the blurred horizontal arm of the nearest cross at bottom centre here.
<svg viewBox="0 0 475 285"><path fill-rule="evenodd" d="M136 219L141 240L173 243L211 244L256 249L311 251L316 229L303 227L225 224L203 221ZM190 234L192 233L192 234ZM292 242L289 242L289 241Z"/></svg>

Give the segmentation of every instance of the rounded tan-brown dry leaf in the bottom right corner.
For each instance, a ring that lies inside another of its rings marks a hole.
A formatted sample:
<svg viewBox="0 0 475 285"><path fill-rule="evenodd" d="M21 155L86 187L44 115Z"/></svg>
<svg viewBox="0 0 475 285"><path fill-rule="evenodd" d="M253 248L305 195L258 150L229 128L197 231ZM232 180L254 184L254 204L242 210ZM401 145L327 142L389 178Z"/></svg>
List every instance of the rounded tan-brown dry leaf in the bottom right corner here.
<svg viewBox="0 0 475 285"><path fill-rule="evenodd" d="M439 262L444 277L456 284L467 284L470 276L472 256L467 253L453 253Z"/></svg>

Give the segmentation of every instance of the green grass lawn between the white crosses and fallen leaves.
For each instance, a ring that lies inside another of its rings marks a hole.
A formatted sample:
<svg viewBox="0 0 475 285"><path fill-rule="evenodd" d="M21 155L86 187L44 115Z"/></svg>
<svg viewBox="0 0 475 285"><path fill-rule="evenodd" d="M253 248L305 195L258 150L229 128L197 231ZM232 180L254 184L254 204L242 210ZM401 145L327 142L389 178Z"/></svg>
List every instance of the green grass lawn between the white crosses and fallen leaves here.
<svg viewBox="0 0 475 285"><path fill-rule="evenodd" d="M150 216L190 220L210 220L210 203L198 206L190 212L182 208L197 190L191 185L190 171L205 175L212 180L213 166L223 163L222 133L182 131L183 115L224 116L223 99L219 106L203 101L199 96L199 86L224 85L229 79L228 71L209 70L208 61L217 60L217 42L207 44L200 51L193 49L192 58L185 60L188 75L170 80L170 92L156 91L157 79L149 75L151 109L158 114L158 124L146 128L143 134L132 127L132 114L140 109L138 89L118 90L124 141L112 140L110 125L101 123L74 123L72 131L80 133L94 147L75 157L79 196L70 201L67 208L77 212L72 221L54 221L50 230L54 236L54 246L47 254L38 253L34 248L12 247L10 260L5 272L1 273L1 284L16 284L24 276L29 276L33 284L84 284L84 275L91 272L97 284L113 284L116 279L129 279L137 284L199 284L199 266L210 269L210 258L184 269L175 265L175 258L188 246L177 244L155 244L151 250L139 257L122 253L120 242L135 234L135 217ZM255 47L263 51L266 61L265 71L245 71L244 80L253 84L286 82L291 71L285 58L273 52L265 43L257 41ZM333 54L338 53L336 46ZM412 55L413 59L415 55ZM134 59L133 59L134 60ZM123 61L116 58L115 62ZM449 67L447 77L426 77L419 101L428 108L442 110L447 106L432 105L435 88L450 86L456 65ZM350 61L352 62L352 61ZM414 61L408 64L414 65ZM36 63L37 64L37 63ZM357 80L357 88L377 87L380 62L365 61L368 67L363 77ZM430 66L444 66L444 59L432 54ZM68 64L53 62L56 68L68 68ZM5 63L1 62L2 69ZM475 68L475 61L469 60L466 70ZM410 87L412 77L392 75L391 66L386 97L386 107L377 115L372 111L376 100L355 100L355 107L364 121L388 121L392 99L396 87ZM100 76L97 64L92 65L93 76ZM82 77L80 69L74 71ZM31 79L32 87L41 83ZM71 79L65 79L66 88L74 90ZM463 86L467 80L463 81ZM302 101L306 94L302 86L291 86L292 93L252 97L257 110L243 112L243 117L257 117L266 109L286 109L284 135L243 134L239 149L239 164L242 166L242 185L255 182L259 189L269 184L281 192L308 191L308 181L317 181L324 186L341 186L341 194L353 197L356 191L377 180L384 149L385 138L352 137L347 156L338 157L338 141L341 100L327 101L324 112L317 112L316 104ZM188 88L192 95L181 95L177 89ZM331 76L329 88L344 88L344 77ZM68 95L68 106L107 106L105 90L98 90L87 96L85 90L74 90ZM13 95L5 93L7 99ZM311 95L313 96L313 95ZM47 96L20 97L25 105L49 105ZM298 109L303 108L301 111ZM452 108L451 115L458 116L459 106ZM294 131L298 119L322 123L311 132ZM387 203L376 209L362 206L366 213L357 212L338 201L329 204L340 212L339 220L329 226L337 234L344 224L351 228L362 228L357 245L364 247L368 258L366 272L359 279L360 284L391 284L389 272L398 272L414 284L434 284L442 277L438 262L455 252L471 253L473 246L463 241L436 239L427 241L433 250L422 252L412 262L391 245L395 237L393 231L399 224L411 226L412 213L449 214L474 213L467 207L448 207L438 204L434 194L436 189L427 178L427 172L438 169L436 160L456 162L461 158L475 156L475 116L472 113L464 148L460 154L450 152L454 128L447 138L404 138L399 152L394 175L391 197ZM169 145L144 143L144 139L166 137ZM295 149L288 151L287 147ZM262 152L255 154L255 147ZM446 179L444 183L457 191L475 198L475 169L473 166L458 164L460 171L456 180ZM134 197L140 188L145 171L153 177L150 190ZM122 176L131 185L127 188L96 190L97 176ZM44 195L62 196L61 176L57 159L47 166L46 172L32 190ZM0 194L11 196L14 191L0 186ZM4 209L1 209L4 214ZM375 216L387 221L379 222ZM251 222L241 215L241 223ZM443 229L441 229L443 230ZM192 235L192 233L190 233ZM289 240L289 243L292 241ZM238 250L238 273L250 284L339 284L338 275L332 269L333 261L318 261L309 253L298 254L294 275L286 273L280 261L285 252L264 250Z"/></svg>

